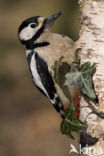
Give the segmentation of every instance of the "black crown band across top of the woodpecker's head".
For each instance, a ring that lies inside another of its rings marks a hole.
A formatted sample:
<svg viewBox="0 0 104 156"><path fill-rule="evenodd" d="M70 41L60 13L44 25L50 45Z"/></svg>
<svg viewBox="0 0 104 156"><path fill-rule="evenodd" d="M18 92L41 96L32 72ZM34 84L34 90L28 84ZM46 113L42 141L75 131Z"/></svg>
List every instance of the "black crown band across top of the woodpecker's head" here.
<svg viewBox="0 0 104 156"><path fill-rule="evenodd" d="M19 29L18 29L18 33L20 33L21 30L23 30L25 27L27 27L28 24L30 24L30 23L37 23L38 24L37 20L39 17L40 16L34 16L34 17L30 17L30 18L26 19L25 21L23 21L22 24L20 25Z"/></svg>

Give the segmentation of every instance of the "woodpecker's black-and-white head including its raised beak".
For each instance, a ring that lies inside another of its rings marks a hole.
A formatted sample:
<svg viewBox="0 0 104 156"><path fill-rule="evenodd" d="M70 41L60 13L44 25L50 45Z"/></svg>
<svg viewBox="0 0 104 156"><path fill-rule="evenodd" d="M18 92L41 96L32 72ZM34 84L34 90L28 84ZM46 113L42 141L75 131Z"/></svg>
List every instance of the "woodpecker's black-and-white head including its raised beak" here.
<svg viewBox="0 0 104 156"><path fill-rule="evenodd" d="M31 39L37 40L46 29L50 30L54 21L61 14L61 12L57 12L48 18L34 16L24 20L18 29L18 35L21 43L25 43Z"/></svg>

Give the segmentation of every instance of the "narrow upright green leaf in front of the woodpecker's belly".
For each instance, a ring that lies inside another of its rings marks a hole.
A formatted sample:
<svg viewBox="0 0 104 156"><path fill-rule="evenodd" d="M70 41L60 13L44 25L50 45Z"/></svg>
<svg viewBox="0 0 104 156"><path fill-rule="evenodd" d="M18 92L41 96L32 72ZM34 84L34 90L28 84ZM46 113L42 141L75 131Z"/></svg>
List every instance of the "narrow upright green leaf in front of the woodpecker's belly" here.
<svg viewBox="0 0 104 156"><path fill-rule="evenodd" d="M60 63L64 56L61 56L58 61L54 62L54 65L52 66L52 69L54 70L54 80L57 84L59 84L59 68L60 68Z"/></svg>

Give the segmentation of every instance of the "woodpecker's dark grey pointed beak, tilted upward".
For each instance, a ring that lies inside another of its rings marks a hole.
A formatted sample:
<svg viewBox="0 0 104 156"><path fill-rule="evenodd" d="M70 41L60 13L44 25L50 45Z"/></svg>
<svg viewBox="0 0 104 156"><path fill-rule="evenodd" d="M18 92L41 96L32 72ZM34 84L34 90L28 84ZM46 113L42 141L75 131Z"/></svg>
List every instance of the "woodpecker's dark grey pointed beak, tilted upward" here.
<svg viewBox="0 0 104 156"><path fill-rule="evenodd" d="M47 18L46 27L51 27L53 25L54 21L61 15L62 15L62 12L59 11L56 14L49 16Z"/></svg>

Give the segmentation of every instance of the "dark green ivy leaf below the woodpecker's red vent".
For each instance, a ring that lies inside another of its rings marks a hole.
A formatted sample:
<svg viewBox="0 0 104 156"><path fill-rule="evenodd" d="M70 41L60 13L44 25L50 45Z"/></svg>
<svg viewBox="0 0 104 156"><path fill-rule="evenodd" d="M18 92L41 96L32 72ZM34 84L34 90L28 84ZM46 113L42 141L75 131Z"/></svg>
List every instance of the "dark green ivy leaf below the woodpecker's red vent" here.
<svg viewBox="0 0 104 156"><path fill-rule="evenodd" d="M65 110L65 118L63 119L60 126L62 134L66 134L71 139L74 139L73 135L71 134L72 131L84 130L88 127L86 123L83 123L77 119L74 113L75 107L73 102L71 102L67 110Z"/></svg>

